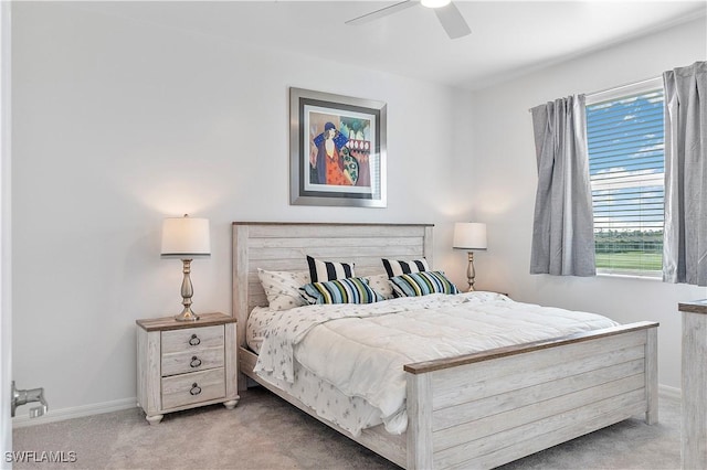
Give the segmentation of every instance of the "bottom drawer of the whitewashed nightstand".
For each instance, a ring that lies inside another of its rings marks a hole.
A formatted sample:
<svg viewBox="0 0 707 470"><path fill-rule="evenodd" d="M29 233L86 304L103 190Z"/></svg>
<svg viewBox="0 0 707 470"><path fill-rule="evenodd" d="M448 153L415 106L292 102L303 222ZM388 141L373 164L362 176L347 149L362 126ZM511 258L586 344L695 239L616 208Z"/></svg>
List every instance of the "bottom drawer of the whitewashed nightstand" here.
<svg viewBox="0 0 707 470"><path fill-rule="evenodd" d="M224 396L225 374L223 367L162 378L163 409L223 398Z"/></svg>

